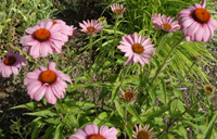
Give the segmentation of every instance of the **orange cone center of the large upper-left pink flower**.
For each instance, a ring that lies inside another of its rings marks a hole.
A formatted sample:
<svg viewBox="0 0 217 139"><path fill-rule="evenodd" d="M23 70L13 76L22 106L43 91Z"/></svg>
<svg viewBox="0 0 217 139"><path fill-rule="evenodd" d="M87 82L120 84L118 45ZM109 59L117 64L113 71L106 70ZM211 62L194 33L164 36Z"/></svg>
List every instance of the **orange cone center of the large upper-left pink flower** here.
<svg viewBox="0 0 217 139"><path fill-rule="evenodd" d="M46 28L37 29L34 33L34 38L37 39L38 41L41 41L41 42L47 41L50 38L50 31L47 30Z"/></svg>

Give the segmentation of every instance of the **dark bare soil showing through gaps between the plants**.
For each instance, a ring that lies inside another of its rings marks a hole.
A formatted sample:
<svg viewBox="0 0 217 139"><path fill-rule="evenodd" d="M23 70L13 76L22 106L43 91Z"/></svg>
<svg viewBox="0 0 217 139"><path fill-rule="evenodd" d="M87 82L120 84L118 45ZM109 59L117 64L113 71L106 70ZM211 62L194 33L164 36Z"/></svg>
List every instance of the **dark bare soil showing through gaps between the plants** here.
<svg viewBox="0 0 217 139"><path fill-rule="evenodd" d="M66 0L53 0L53 4L58 7L58 2L61 2L61 5L68 7L71 2L67 2ZM102 2L102 1L101 1ZM78 12L75 11L75 9L69 8L58 15L53 17L63 20L66 22L67 25L74 25L79 28L78 23L82 22L82 20L88 18L99 18L101 16L102 11L104 10L104 7L98 5L98 0L79 0L79 7L80 9ZM84 10L86 9L86 10ZM104 13L103 16L106 16L107 18L111 17L108 13ZM112 17L111 17L112 18ZM15 35L16 36L16 35ZM73 51L76 53L80 51L87 43L88 40L86 40L86 34L78 31L76 35L76 39L71 39L68 45L69 48L73 49ZM17 37L16 37L17 38ZM22 49L22 46L17 41L18 39L13 39L12 45L14 47L17 47ZM214 42L213 45L216 45L217 42ZM1 48L4 49L5 48ZM214 54L217 56L217 51L215 48L209 48L210 51L214 52ZM16 51L15 49L13 49ZM67 55L66 55L66 47L63 47L62 53L59 54L61 65L62 67L67 66ZM93 51L93 60L97 56L97 53ZM49 61L53 61L52 58L49 58ZM40 59L38 61L42 65L42 60ZM85 52L82 55L75 55L72 56L72 63L77 63L76 65L82 66L85 68L88 68L89 66L89 53ZM203 70L206 72L206 74L210 77L212 85L216 86L217 88L217 63L212 61L212 66L203 66ZM28 71L30 68L33 63L29 62L28 66L25 66L21 71L21 75L24 76L24 71ZM76 78L82 75L81 71L78 68L78 66L74 66L72 71L72 77ZM100 78L94 77L94 80L99 80ZM98 92L100 92L100 89L97 89ZM183 91L186 104L189 106L191 104L190 97L189 97L189 90L190 88L187 88ZM79 91L82 91L86 93L90 100L92 100L91 94L89 93L89 90L81 89ZM14 130L17 130L16 127L24 127L27 123L31 122L35 117L34 116L27 116L24 115L24 113L28 112L28 110L25 109L15 109L11 110L12 106L16 106L20 104L24 104L27 102L30 102L29 96L27 94L23 83L18 78L18 76L11 76L10 78L3 78L0 76L0 128L3 129L3 135L7 137L7 139L18 139L20 136L14 132ZM217 92L212 98L213 105L217 109ZM15 122L15 124L14 124ZM14 127L14 125L16 125ZM21 128L23 131L23 129ZM192 136L192 131L188 130L189 135ZM1 136L0 136L1 139Z"/></svg>

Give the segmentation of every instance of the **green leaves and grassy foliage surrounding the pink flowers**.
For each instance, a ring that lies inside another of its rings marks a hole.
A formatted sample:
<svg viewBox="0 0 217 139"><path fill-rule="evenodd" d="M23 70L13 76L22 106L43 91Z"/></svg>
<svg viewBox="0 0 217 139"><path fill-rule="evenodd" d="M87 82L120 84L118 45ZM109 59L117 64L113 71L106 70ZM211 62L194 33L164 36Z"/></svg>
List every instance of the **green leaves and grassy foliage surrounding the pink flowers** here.
<svg viewBox="0 0 217 139"><path fill-rule="evenodd" d="M0 27L2 27L1 34L5 40L10 36L5 36L7 29L16 26L15 18L20 18L17 24L21 28L16 29L22 33L25 29L23 27L34 26L41 18L51 17L55 11L51 10L52 3L49 0L46 2L23 0L21 4L15 1L2 2L5 11L1 12L3 20ZM92 35L90 43L77 53L73 53L67 45L68 65L59 67L64 74L69 75L76 64L75 62L72 62L75 64L71 64L71 55L90 52L89 60L92 64L89 68L77 65L82 72L82 76L72 78L74 84L67 85L67 94L64 99L58 99L55 104L48 103L43 98L39 102L31 101L12 108L27 109L29 112L25 113L26 115L36 116L31 123L22 127L23 132L20 130L21 124L13 122L13 131L21 138L30 136L31 139L62 139L75 134L77 129L94 123L99 127L102 125L115 127L118 130L118 138L129 137L132 139L135 125L145 126L149 124L158 139L188 139L190 129L194 132L193 139L214 139L217 136L215 127L217 113L210 103L212 96L206 96L203 88L195 85L194 78L196 77L202 84L209 83L209 80L200 67L201 63L192 59L195 53L200 53L203 55L202 63L210 64L208 60L216 61L216 59L204 46L214 46L193 41L186 42L181 39L183 38L181 30L165 33L153 28L151 21L154 13L177 16L180 10L199 2L199 0L113 0L111 3L101 4L106 4L108 10L110 5L116 2L124 3L124 7L127 8L124 17L113 16L112 22L110 21L111 24L101 33ZM214 4L212 2L207 4L210 13L215 13L210 9ZM7 7L11 9L5 9ZM33 10L29 11L30 7ZM157 54L152 55L151 64L141 66L141 64L132 62L132 64L126 65L127 59L123 56L123 52L116 49L122 40L120 37L135 31L152 38L152 43L156 45ZM99 52L94 61L91 61L92 47L95 52ZM174 53L169 55L174 48L176 48ZM26 52L24 55L27 56ZM36 63L33 58L27 59ZM56 55L53 59L56 64L61 64ZM43 62L46 65L46 61ZM93 81L93 76L102 77L102 80ZM187 81L186 77L190 77L192 80ZM179 85L191 88L189 92L191 104L184 103L186 98ZM125 96L122 96L119 90L126 90L128 86L138 89L136 101L128 102ZM88 98L80 91L84 88L92 92L92 97ZM97 88L101 89L99 96L95 96ZM100 104L100 101L103 103ZM205 109L201 109L201 105ZM41 130L43 130L42 134ZM1 130L0 136L3 137Z"/></svg>

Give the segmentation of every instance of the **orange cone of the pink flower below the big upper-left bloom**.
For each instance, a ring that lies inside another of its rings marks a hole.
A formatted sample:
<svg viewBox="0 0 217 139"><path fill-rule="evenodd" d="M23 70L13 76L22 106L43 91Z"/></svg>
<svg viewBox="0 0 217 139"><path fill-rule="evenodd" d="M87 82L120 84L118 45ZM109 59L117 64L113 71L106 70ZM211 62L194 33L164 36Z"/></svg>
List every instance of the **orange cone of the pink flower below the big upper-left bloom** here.
<svg viewBox="0 0 217 139"><path fill-rule="evenodd" d="M40 80L43 84L47 83L47 84L51 85L51 84L55 83L56 74L53 71L44 71L40 75Z"/></svg>

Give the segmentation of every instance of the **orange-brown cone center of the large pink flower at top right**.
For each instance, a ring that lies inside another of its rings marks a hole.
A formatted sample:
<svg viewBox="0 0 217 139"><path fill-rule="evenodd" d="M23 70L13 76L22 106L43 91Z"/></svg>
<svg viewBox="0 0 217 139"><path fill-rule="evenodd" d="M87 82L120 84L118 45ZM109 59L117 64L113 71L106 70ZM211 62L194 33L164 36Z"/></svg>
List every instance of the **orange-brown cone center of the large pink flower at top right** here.
<svg viewBox="0 0 217 139"><path fill-rule="evenodd" d="M210 13L205 9L196 9L193 12L193 18L199 23L207 23L210 18Z"/></svg>

